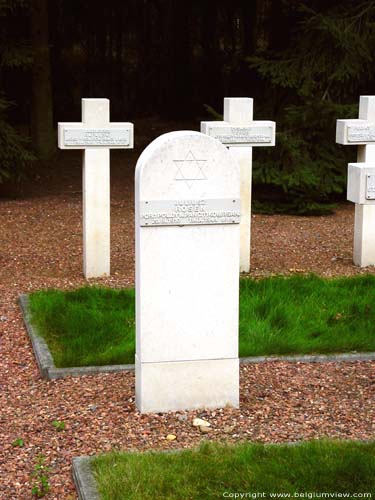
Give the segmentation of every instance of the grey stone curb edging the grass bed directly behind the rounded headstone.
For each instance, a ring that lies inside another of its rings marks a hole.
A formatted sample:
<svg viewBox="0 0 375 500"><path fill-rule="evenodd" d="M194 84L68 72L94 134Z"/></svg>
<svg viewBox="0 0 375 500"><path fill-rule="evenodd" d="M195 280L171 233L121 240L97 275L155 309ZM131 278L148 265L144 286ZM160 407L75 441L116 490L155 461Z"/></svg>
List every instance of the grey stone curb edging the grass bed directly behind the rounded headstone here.
<svg viewBox="0 0 375 500"><path fill-rule="evenodd" d="M47 380L54 380L67 376L78 377L81 375L95 375L98 373L116 373L122 371L134 371L133 364L129 365L105 365L105 366L74 366L69 368L57 368L53 362L51 352L45 340L38 334L35 326L31 324L29 310L29 298L26 294L20 295L19 304L23 314L23 321L33 345L35 357L40 373ZM343 354L305 354L289 356L251 356L240 358L240 363L264 363L270 361L291 361L300 363L327 363L345 361L373 361L375 352L343 353Z"/></svg>

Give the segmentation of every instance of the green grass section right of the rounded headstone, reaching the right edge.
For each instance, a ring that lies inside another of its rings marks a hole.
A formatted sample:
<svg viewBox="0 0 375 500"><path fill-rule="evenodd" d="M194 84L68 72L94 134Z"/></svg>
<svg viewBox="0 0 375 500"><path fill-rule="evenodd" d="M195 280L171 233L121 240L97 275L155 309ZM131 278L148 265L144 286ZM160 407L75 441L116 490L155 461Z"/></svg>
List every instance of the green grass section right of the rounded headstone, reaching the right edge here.
<svg viewBox="0 0 375 500"><path fill-rule="evenodd" d="M375 277L241 280L241 356L375 351Z"/></svg>

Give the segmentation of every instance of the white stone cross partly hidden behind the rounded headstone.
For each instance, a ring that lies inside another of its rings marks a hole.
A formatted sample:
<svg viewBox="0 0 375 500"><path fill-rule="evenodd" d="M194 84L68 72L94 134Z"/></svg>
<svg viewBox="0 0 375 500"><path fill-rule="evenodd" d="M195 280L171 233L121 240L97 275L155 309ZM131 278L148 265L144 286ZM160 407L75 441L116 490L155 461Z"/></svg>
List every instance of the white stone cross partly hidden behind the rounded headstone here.
<svg viewBox="0 0 375 500"><path fill-rule="evenodd" d="M253 99L226 97L224 121L201 122L201 132L227 146L241 167L240 272L250 271L251 178L254 146L275 145L276 124L253 121Z"/></svg>

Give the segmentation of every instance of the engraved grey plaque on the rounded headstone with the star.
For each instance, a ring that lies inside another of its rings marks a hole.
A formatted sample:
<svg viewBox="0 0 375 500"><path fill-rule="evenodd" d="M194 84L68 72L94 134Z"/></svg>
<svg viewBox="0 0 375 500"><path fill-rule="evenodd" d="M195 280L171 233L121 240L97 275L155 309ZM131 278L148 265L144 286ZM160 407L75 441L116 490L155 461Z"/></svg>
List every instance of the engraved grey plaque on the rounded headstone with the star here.
<svg viewBox="0 0 375 500"><path fill-rule="evenodd" d="M240 200L163 200L140 202L141 226L239 224Z"/></svg>

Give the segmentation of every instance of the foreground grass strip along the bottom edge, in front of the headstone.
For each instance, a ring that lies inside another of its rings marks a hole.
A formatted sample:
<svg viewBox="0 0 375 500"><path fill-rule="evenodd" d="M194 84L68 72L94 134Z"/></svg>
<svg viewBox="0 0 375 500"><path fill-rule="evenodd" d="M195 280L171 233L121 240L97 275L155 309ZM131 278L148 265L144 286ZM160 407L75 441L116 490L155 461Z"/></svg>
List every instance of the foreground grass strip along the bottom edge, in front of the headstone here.
<svg viewBox="0 0 375 500"><path fill-rule="evenodd" d="M95 458L93 469L101 500L207 500L234 498L229 494L236 492L265 494L258 498L272 498L270 493L375 494L374 443L205 443L178 453L114 452Z"/></svg>

